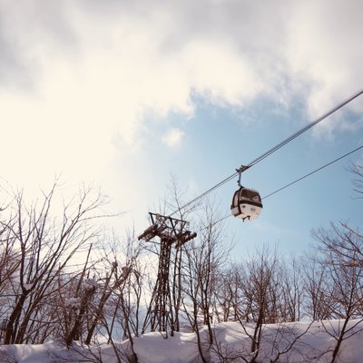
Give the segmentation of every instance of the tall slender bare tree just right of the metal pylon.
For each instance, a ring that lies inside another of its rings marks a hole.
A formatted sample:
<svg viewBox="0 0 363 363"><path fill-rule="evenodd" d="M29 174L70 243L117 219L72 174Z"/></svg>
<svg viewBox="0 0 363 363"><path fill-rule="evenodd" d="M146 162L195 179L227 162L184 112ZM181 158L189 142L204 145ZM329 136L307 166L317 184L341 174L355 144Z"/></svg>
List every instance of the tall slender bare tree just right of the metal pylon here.
<svg viewBox="0 0 363 363"><path fill-rule="evenodd" d="M196 333L201 360L206 362L200 327L207 327L207 346L211 346L211 325L218 316L216 299L219 275L228 260L231 243L226 243L223 223L211 204L206 204L200 225L199 238L183 246L186 259L182 303L191 329Z"/></svg>

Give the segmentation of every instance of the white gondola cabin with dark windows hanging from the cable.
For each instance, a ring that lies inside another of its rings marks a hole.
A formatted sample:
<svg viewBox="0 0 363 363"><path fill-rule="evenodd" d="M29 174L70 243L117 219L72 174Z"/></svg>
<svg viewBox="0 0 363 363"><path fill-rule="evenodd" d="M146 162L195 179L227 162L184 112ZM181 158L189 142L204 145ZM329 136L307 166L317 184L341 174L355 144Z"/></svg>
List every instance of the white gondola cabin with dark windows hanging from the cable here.
<svg viewBox="0 0 363 363"><path fill-rule="evenodd" d="M241 220L254 220L259 217L262 210L262 202L258 191L240 187L235 191L231 203L231 213Z"/></svg>

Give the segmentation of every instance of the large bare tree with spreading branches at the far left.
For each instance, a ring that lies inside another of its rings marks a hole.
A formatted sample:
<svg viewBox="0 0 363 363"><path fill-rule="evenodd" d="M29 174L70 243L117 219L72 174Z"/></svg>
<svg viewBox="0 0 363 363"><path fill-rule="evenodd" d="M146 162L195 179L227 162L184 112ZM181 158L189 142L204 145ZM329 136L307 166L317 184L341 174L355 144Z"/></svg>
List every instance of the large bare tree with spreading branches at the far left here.
<svg viewBox="0 0 363 363"><path fill-rule="evenodd" d="M13 283L14 299L5 329L5 344L22 343L35 311L46 296L55 291L60 273L97 235L94 220L104 199L99 191L83 188L77 197L64 203L60 219L52 216L56 183L42 201L25 205L24 194L15 195L14 219L0 221L9 231L18 254L19 267Z"/></svg>

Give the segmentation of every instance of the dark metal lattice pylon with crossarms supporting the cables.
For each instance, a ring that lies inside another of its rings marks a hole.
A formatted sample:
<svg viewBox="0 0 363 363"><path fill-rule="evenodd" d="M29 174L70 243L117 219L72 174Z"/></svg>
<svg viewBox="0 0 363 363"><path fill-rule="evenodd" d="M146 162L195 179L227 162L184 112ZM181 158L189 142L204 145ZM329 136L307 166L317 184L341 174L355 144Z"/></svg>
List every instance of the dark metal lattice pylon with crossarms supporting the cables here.
<svg viewBox="0 0 363 363"><path fill-rule="evenodd" d="M150 326L151 331L167 331L172 325L171 317L171 291L169 284L170 261L172 245L180 248L188 240L192 240L197 233L187 231L187 221L163 216L157 213L149 213L152 225L146 229L139 240L151 241L155 237L160 238L159 267L155 287L152 291L152 299L146 313L142 333Z"/></svg>

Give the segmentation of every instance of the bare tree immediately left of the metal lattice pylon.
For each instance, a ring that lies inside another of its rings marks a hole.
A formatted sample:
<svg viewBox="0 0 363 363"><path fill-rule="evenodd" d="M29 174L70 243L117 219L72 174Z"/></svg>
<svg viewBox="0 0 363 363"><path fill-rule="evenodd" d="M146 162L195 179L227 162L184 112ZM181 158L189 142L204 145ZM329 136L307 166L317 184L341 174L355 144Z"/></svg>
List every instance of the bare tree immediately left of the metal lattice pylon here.
<svg viewBox="0 0 363 363"><path fill-rule="evenodd" d="M139 335L141 319L141 252L142 247L133 231L127 233L125 240L115 237L110 240L103 249L103 260L111 266L113 272L106 277L103 292L93 312L93 326L102 322L100 328L107 331L108 343L113 346L116 356L120 355L120 351L115 340L128 339L128 353L123 352L123 355L127 355L132 362L138 360L133 339ZM87 337L86 343L89 342Z"/></svg>

